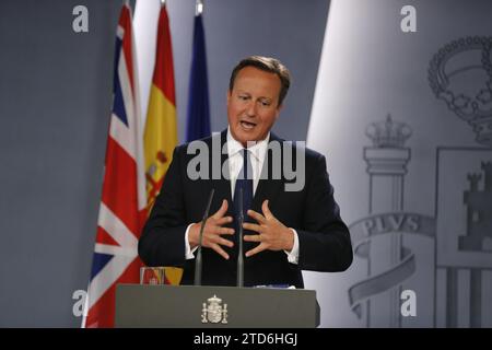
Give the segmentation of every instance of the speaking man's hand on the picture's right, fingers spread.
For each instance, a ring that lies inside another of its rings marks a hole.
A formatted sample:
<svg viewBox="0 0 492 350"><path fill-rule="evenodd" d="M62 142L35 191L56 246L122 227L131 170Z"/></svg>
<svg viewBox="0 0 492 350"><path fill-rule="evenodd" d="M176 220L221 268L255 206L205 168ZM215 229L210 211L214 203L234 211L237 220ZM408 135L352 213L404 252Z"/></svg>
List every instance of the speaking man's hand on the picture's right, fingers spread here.
<svg viewBox="0 0 492 350"><path fill-rule="evenodd" d="M244 241L259 242L255 248L246 252L246 256L249 257L262 250L292 250L294 246L294 233L291 229L281 223L268 208L268 200L265 200L261 210L263 214L260 214L254 210L248 210L248 215L255 219L256 223L243 224L246 230L255 231L258 234L244 235Z"/></svg>

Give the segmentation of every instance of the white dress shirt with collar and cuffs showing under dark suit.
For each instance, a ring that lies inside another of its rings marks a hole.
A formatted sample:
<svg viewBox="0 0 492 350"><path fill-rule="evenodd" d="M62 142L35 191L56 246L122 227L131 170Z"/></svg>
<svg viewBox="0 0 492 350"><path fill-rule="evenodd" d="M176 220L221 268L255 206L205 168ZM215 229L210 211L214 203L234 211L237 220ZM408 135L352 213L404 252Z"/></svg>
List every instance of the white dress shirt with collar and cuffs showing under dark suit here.
<svg viewBox="0 0 492 350"><path fill-rule="evenodd" d="M232 133L231 128L227 128L227 155L229 155L229 174L231 175L231 197L234 200L234 188L236 186L236 179L239 175L241 170L243 168L243 144L241 144L238 141L236 141ZM251 161L251 167L253 167L253 195L256 192L256 188L258 187L258 183L260 179L261 168L265 162L265 155L267 154L268 150L268 141L270 140L270 132L268 132L265 140L258 141L253 145L248 147L249 152L249 159ZM273 213L274 214L274 213ZM188 240L188 233L189 229L191 228L192 223L188 225L185 232L185 252L186 252L186 259L192 259L195 258L195 250L190 249L189 246L189 240ZM298 262L298 236L297 232L294 229L291 229L294 233L294 246L292 247L291 252L285 252L288 255L289 262L297 264Z"/></svg>

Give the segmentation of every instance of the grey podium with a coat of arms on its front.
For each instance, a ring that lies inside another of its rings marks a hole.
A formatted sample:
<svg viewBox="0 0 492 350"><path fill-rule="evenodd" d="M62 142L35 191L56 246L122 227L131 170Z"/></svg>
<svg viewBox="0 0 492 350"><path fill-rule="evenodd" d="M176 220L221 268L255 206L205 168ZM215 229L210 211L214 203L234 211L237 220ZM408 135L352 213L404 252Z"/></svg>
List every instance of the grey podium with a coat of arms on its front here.
<svg viewBox="0 0 492 350"><path fill-rule="evenodd" d="M115 327L315 328L316 291L118 284Z"/></svg>

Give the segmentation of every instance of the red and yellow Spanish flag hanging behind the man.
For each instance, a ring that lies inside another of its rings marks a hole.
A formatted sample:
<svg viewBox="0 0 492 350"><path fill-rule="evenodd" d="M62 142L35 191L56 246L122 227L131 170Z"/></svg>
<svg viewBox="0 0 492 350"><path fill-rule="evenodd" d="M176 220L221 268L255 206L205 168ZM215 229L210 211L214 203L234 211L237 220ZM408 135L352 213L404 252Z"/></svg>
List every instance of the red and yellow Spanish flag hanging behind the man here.
<svg viewBox="0 0 492 350"><path fill-rule="evenodd" d="M143 138L148 212L150 212L177 144L173 49L165 4L162 4L159 15L155 67Z"/></svg>

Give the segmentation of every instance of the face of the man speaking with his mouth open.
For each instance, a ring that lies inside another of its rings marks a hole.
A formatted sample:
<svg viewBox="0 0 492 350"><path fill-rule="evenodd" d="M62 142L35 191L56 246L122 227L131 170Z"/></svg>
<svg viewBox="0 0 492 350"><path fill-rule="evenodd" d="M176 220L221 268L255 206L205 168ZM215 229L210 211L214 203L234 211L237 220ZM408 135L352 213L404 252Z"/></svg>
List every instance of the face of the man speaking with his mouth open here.
<svg viewBox="0 0 492 350"><path fill-rule="evenodd" d="M227 118L234 139L263 140L279 117L278 106L281 83L274 73L245 67L236 75L227 93Z"/></svg>

